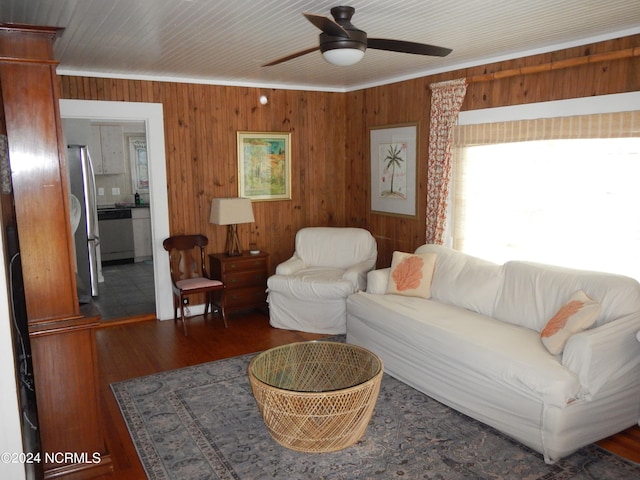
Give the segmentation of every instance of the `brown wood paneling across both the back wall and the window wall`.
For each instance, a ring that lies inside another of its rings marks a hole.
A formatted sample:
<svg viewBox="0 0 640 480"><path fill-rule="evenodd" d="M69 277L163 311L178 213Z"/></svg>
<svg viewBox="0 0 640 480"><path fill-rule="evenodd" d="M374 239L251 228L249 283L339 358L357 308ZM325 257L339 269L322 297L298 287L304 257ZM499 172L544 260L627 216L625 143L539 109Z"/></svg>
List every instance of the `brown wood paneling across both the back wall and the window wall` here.
<svg viewBox="0 0 640 480"><path fill-rule="evenodd" d="M429 84L638 47L640 35L350 93L61 77L62 98L164 105L172 233L202 231L211 249L225 231L208 223L213 197L237 195L236 132L292 132L292 201L254 203L256 223L240 225L271 253L271 267L293 252L295 232L312 225L360 226L378 241L379 266L393 250L424 243ZM463 110L640 90L639 57L472 83ZM269 103L260 105L265 94ZM369 128L419 123L416 218L372 214Z"/></svg>

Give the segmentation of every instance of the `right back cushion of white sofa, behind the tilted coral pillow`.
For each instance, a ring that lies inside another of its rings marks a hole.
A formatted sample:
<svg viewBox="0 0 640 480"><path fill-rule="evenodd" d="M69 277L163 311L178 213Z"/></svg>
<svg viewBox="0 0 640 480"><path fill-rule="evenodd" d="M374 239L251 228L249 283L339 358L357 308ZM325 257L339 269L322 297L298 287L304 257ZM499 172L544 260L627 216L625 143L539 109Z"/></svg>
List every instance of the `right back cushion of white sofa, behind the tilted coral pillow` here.
<svg viewBox="0 0 640 480"><path fill-rule="evenodd" d="M540 332L578 290L601 306L596 327L640 311L640 284L629 277L518 261L503 268L494 316L504 322Z"/></svg>

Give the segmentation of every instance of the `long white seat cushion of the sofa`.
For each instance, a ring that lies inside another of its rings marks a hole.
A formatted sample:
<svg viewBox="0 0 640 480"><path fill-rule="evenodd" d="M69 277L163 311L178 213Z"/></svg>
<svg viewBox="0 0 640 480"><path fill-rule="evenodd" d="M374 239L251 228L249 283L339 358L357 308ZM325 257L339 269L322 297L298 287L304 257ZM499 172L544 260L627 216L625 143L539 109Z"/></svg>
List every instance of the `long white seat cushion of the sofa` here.
<svg viewBox="0 0 640 480"><path fill-rule="evenodd" d="M349 323L357 317L377 331L436 355L453 371L496 382L560 407L582 394L578 376L549 355L538 334L433 299L359 292L347 299ZM398 352L398 355L401 355ZM455 374L442 371L440 375Z"/></svg>

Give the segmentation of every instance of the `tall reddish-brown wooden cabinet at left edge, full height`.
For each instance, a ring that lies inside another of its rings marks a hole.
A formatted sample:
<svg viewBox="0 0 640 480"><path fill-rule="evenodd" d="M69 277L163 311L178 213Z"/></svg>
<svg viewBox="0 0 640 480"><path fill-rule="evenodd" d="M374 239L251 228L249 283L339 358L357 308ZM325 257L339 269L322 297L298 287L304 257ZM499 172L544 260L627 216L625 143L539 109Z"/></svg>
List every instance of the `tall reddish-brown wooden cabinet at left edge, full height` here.
<svg viewBox="0 0 640 480"><path fill-rule="evenodd" d="M0 200L3 222L12 217L18 230L43 456L91 452L101 460L45 459L44 476L81 479L109 473L112 463L96 383L99 318L80 312L76 290L57 31L0 24L0 132L6 129L13 186Z"/></svg>

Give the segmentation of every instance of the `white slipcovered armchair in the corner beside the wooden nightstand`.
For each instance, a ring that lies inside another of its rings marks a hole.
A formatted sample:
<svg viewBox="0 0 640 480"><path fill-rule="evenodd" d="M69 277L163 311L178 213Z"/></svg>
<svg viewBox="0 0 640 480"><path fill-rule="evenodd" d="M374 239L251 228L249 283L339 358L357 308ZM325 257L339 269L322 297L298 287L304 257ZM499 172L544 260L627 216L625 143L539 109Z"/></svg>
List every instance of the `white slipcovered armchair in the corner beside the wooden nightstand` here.
<svg viewBox="0 0 640 480"><path fill-rule="evenodd" d="M293 256L267 280L271 326L345 333L347 297L367 288L367 273L377 258L376 241L367 230L303 228Z"/></svg>

